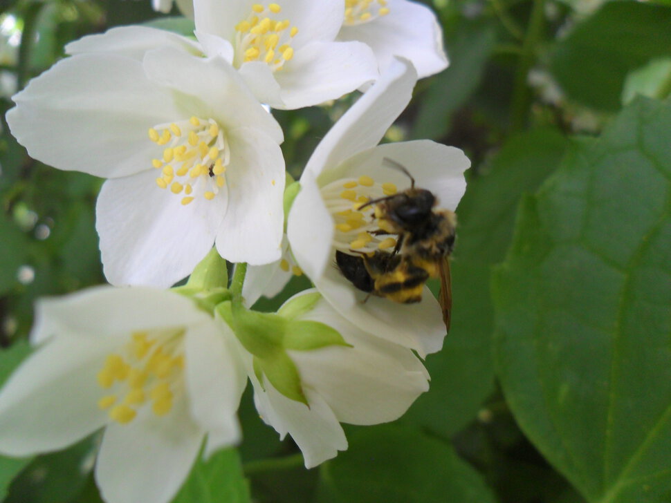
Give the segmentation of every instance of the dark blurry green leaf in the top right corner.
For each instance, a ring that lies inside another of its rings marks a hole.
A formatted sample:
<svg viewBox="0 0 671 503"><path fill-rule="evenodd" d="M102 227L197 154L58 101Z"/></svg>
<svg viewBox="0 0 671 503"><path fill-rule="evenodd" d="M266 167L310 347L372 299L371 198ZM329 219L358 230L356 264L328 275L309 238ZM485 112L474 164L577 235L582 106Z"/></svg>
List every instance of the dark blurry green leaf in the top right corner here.
<svg viewBox="0 0 671 503"><path fill-rule="evenodd" d="M552 73L571 99L616 111L627 73L671 52L669 26L671 6L607 2L558 42Z"/></svg>

